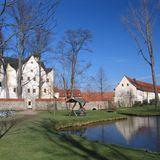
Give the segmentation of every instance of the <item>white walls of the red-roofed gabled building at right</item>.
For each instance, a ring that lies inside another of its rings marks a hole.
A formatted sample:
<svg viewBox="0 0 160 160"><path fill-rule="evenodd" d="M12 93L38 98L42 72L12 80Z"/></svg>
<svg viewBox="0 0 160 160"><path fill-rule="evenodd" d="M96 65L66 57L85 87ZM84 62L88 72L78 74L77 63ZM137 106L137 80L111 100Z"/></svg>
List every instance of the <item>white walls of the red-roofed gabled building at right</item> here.
<svg viewBox="0 0 160 160"><path fill-rule="evenodd" d="M139 83L140 81L135 80L136 82ZM160 97L160 93L158 95ZM115 88L115 103L118 106L132 106L135 102L143 103L143 101L149 103L153 99L155 99L154 92L139 90L126 76L122 78Z"/></svg>

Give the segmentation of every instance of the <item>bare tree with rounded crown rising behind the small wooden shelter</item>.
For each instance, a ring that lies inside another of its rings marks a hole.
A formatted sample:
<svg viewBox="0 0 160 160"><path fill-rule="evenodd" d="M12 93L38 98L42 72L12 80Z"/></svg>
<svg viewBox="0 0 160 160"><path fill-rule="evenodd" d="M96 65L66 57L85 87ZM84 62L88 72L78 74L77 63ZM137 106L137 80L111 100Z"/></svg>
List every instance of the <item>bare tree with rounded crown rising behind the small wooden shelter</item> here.
<svg viewBox="0 0 160 160"><path fill-rule="evenodd" d="M78 56L82 50L90 51L87 47L88 42L92 39L92 34L89 30L67 30L62 42L67 49L67 58L71 64L71 76L70 76L70 91L71 97L73 97L73 90L75 88L75 80L78 74L82 74L90 65L87 64L81 69L78 68Z"/></svg>

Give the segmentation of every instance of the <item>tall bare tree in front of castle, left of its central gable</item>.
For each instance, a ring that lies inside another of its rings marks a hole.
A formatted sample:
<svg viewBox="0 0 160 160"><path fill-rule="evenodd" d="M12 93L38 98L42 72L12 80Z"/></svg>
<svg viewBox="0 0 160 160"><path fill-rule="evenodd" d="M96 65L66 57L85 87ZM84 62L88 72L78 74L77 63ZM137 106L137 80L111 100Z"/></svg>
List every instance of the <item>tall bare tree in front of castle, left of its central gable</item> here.
<svg viewBox="0 0 160 160"><path fill-rule="evenodd" d="M13 21L13 32L17 32L16 34L16 52L18 55L18 74L17 74L17 96L18 98L22 98L22 65L23 60L25 58L25 43L26 39L29 36L29 31L31 27L33 27L33 6L31 1L28 3L24 0L17 0L16 3L9 10L9 15Z"/></svg>

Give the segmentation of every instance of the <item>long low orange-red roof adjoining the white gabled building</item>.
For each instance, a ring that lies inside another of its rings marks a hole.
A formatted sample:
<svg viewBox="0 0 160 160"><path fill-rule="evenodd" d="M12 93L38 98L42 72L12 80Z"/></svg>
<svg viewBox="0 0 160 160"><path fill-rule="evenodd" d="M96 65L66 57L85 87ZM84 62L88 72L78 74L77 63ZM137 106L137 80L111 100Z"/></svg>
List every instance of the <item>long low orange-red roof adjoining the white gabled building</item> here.
<svg viewBox="0 0 160 160"><path fill-rule="evenodd" d="M115 93L114 92L82 92L82 97L85 101L113 101Z"/></svg>

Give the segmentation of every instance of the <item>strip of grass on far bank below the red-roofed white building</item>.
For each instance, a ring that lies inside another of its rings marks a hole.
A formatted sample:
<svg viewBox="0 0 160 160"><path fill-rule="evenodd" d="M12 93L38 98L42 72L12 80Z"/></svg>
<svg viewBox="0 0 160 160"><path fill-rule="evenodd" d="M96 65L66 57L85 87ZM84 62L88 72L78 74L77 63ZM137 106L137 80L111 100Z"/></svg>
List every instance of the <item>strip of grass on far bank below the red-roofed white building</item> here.
<svg viewBox="0 0 160 160"><path fill-rule="evenodd" d="M130 108L119 108L117 113L133 116L160 116L160 107L152 105L137 106Z"/></svg>

